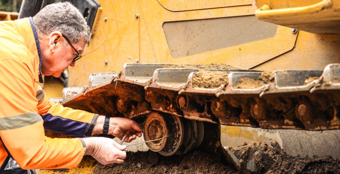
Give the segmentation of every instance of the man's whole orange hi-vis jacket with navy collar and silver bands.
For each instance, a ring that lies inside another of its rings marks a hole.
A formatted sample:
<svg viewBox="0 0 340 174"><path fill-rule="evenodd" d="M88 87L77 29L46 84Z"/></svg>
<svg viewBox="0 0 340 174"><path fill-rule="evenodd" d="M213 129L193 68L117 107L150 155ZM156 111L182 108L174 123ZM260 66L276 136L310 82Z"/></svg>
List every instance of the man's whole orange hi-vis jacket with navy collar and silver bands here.
<svg viewBox="0 0 340 174"><path fill-rule="evenodd" d="M45 98L38 85L43 82L40 66L32 18L0 22L0 166L9 155L23 169L74 168L84 156L83 140L49 138L44 129L86 137L98 114Z"/></svg>

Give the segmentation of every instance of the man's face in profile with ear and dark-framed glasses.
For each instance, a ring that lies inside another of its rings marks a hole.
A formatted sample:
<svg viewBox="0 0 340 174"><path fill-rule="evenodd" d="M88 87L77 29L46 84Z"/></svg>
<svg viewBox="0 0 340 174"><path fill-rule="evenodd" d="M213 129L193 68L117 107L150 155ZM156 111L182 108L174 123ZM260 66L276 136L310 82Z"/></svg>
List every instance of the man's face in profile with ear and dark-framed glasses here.
<svg viewBox="0 0 340 174"><path fill-rule="evenodd" d="M46 44L45 44L46 45ZM77 43L72 43L73 47L79 54L84 52L85 40L81 39ZM67 69L68 66L74 66L73 58L78 54L74 51L72 46L68 44L66 39L58 33L56 35L50 35L48 48L42 46L43 60L41 63L41 72L43 75L54 77L60 77L61 73Z"/></svg>

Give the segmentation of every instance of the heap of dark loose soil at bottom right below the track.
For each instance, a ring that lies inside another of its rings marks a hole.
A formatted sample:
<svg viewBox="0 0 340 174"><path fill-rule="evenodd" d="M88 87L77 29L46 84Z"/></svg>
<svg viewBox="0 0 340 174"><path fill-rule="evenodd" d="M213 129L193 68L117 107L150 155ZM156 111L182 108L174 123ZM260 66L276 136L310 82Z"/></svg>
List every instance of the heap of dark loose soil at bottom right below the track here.
<svg viewBox="0 0 340 174"><path fill-rule="evenodd" d="M340 173L340 161L330 156L293 157L287 155L277 142L271 146L257 142L229 150L240 159L241 168L255 158L256 173Z"/></svg>

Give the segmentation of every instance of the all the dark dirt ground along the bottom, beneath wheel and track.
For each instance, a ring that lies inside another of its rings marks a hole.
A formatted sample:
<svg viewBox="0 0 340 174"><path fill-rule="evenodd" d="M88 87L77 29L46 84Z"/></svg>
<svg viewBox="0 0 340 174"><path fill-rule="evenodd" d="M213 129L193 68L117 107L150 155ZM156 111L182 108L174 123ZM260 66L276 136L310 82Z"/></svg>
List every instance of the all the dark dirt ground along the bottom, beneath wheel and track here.
<svg viewBox="0 0 340 174"><path fill-rule="evenodd" d="M201 151L186 155L162 156L156 152L127 152L122 164L97 165L93 173L340 173L340 161L330 156L297 156L287 155L278 143L272 147L264 142L244 144L230 148L234 155L241 159L240 168L232 167L227 161L220 161L217 156ZM88 157L87 157L88 158ZM245 169L246 161L255 158L255 170Z"/></svg>

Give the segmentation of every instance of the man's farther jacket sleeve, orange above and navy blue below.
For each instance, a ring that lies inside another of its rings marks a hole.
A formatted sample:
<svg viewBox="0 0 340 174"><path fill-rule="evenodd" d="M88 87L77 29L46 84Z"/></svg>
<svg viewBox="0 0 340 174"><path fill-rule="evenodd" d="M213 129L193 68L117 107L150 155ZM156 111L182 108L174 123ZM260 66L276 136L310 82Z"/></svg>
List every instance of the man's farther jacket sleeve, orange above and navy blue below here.
<svg viewBox="0 0 340 174"><path fill-rule="evenodd" d="M45 130L72 137L89 137L97 121L98 114L63 107L45 98L44 90L38 85L36 98L38 114L44 120Z"/></svg>

